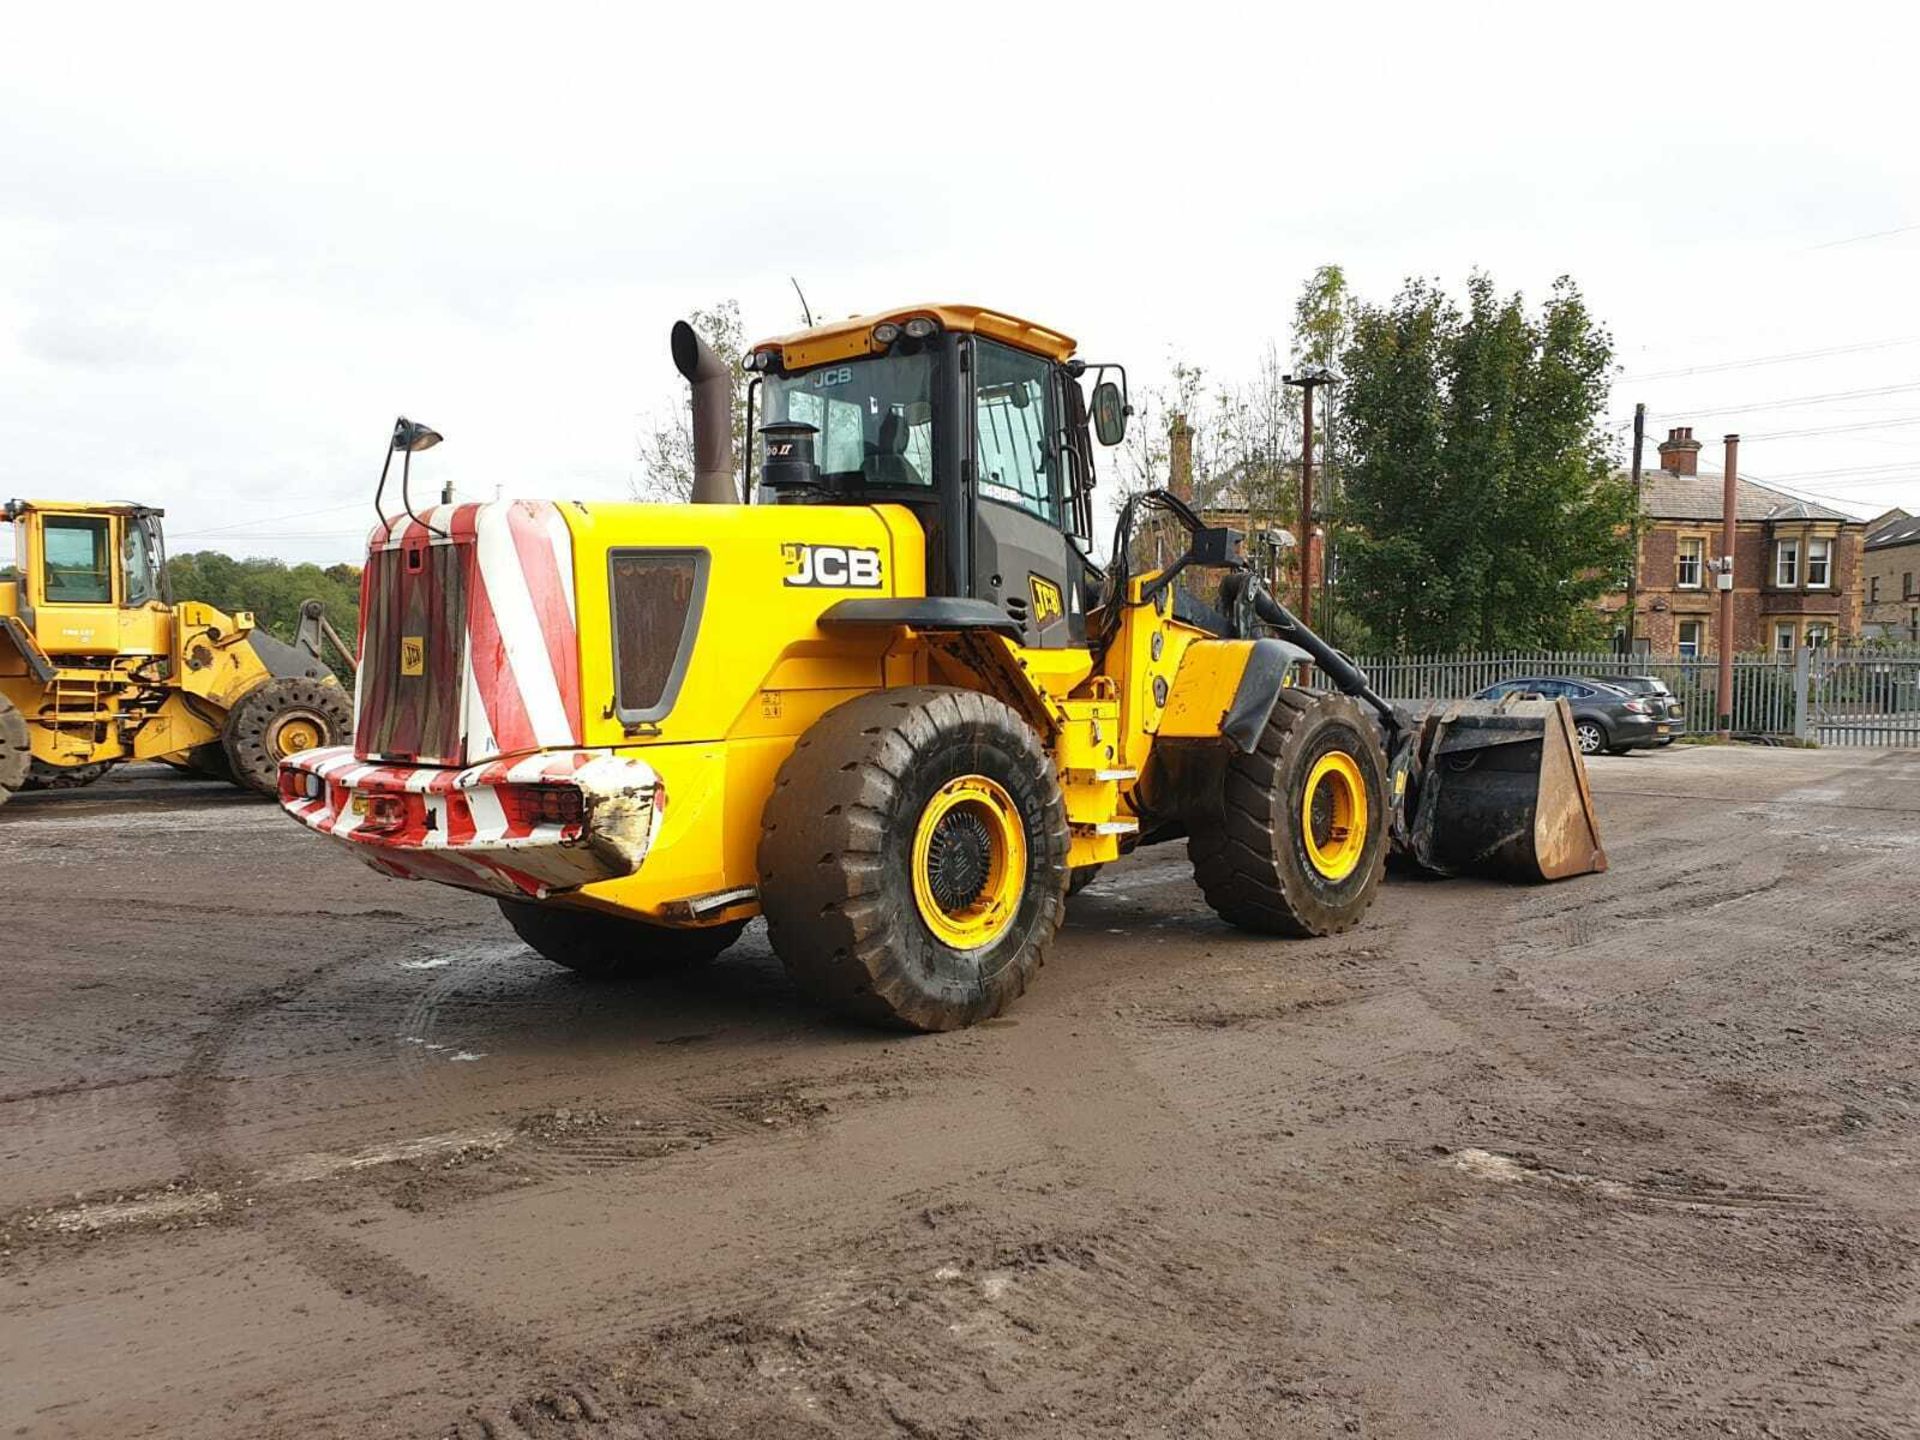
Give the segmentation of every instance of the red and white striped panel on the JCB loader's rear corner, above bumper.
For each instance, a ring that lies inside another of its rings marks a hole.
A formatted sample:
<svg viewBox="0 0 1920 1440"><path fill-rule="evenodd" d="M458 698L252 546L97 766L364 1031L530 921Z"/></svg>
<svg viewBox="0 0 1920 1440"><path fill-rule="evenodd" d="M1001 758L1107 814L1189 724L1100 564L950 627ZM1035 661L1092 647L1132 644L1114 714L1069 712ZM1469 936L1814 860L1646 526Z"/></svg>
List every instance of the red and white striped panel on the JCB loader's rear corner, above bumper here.
<svg viewBox="0 0 1920 1440"><path fill-rule="evenodd" d="M459 678L467 764L582 745L574 547L559 505L436 505L369 540L374 553L422 545L472 547Z"/></svg>

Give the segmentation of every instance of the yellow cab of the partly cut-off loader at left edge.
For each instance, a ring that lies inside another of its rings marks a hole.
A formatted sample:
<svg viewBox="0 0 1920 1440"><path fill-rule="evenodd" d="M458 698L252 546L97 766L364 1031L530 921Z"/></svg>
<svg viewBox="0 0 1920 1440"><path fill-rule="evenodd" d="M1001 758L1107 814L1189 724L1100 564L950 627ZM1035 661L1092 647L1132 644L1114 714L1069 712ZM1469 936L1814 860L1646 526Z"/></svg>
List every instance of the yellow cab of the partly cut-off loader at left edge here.
<svg viewBox="0 0 1920 1440"><path fill-rule="evenodd" d="M12 501L12 605L46 655L165 655L171 641L161 511ZM4 584L4 582L0 582Z"/></svg>

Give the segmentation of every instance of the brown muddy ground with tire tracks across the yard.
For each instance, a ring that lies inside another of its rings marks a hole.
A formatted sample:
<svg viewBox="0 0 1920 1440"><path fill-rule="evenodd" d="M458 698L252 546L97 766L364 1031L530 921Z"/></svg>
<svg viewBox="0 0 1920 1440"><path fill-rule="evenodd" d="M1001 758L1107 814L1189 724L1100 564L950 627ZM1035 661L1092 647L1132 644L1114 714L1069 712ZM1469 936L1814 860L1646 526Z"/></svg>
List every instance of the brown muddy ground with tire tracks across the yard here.
<svg viewBox="0 0 1920 1440"><path fill-rule="evenodd" d="M0 1434L1920 1434L1920 753L1594 764L1319 943L1108 870L904 1039L129 770L0 812Z"/></svg>

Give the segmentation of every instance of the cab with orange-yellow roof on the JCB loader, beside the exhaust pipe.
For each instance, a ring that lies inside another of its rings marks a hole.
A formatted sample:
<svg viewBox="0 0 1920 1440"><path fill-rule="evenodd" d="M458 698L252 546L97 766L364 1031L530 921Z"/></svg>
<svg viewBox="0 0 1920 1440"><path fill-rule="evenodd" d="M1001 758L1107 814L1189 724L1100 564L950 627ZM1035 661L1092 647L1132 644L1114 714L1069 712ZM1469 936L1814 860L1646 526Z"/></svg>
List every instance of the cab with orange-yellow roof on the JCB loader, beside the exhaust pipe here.
<svg viewBox="0 0 1920 1440"><path fill-rule="evenodd" d="M1071 353L1066 336L964 305L756 346L758 499L904 505L927 536L927 595L987 601L1031 647L1083 645L1092 444Z"/></svg>

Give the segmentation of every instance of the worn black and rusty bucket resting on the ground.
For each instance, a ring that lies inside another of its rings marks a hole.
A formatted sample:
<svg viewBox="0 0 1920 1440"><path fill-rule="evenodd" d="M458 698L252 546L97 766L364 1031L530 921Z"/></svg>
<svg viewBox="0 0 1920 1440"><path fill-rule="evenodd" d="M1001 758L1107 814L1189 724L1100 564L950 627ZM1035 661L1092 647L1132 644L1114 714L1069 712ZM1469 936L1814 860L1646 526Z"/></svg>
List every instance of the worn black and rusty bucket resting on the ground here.
<svg viewBox="0 0 1920 1440"><path fill-rule="evenodd" d="M1421 726L1407 851L1444 876L1607 868L1567 701L1450 701Z"/></svg>

